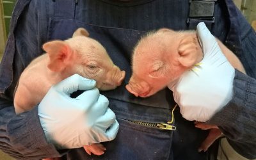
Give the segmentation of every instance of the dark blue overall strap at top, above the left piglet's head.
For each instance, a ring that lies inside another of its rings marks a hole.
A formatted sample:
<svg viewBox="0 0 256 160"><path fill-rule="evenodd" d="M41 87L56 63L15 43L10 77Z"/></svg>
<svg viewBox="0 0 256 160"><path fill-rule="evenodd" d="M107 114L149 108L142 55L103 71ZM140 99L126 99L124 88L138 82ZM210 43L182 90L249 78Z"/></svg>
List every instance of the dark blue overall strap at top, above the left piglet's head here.
<svg viewBox="0 0 256 160"><path fill-rule="evenodd" d="M78 0L52 0L54 2L54 17L73 19Z"/></svg>

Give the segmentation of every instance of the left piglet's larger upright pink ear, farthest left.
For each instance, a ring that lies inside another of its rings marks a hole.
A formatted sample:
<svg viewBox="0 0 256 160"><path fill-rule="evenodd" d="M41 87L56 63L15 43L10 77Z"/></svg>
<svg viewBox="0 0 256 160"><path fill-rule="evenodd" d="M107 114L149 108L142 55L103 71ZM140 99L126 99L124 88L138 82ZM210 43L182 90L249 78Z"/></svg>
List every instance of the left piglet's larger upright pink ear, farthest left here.
<svg viewBox="0 0 256 160"><path fill-rule="evenodd" d="M43 45L43 49L49 55L47 67L54 72L61 72L70 61L72 49L61 40L54 40Z"/></svg>

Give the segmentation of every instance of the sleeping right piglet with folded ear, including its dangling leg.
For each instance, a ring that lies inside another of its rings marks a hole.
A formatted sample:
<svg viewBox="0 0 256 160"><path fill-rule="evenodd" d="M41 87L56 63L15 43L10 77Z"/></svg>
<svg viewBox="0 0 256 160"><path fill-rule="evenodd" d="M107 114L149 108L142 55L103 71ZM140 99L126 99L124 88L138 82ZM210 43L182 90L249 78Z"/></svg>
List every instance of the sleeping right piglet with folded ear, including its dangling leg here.
<svg viewBox="0 0 256 160"><path fill-rule="evenodd" d="M231 65L245 73L235 54L220 40L217 41ZM202 58L203 52L196 31L173 31L163 28L148 33L134 49L132 76L126 88L136 97L154 95L193 68ZM206 151L221 136L217 126L196 122L195 127L211 129L198 151Z"/></svg>

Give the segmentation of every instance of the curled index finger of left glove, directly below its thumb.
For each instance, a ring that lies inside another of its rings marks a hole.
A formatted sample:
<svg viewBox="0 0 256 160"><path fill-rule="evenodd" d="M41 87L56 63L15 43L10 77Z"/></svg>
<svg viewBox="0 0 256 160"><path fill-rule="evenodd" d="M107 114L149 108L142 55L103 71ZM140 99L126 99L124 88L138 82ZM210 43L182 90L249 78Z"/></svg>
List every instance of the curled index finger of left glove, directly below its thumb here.
<svg viewBox="0 0 256 160"><path fill-rule="evenodd" d="M99 99L100 92L98 88L93 88L92 90L86 90L81 95L76 97L79 103L86 107L92 107L95 102Z"/></svg>

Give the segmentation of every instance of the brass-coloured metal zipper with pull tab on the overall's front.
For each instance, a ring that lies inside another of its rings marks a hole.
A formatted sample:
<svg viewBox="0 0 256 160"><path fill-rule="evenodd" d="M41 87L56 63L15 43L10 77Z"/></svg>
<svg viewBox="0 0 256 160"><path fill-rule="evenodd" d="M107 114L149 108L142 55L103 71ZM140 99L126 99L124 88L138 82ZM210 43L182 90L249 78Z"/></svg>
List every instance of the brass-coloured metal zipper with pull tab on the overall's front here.
<svg viewBox="0 0 256 160"><path fill-rule="evenodd" d="M127 120L127 121L132 122L134 124L144 125L146 127L154 127L157 129L175 131L176 127L172 124L173 124L173 120L174 120L173 111L176 107L177 107L177 104L172 109L172 120L168 121L167 123L152 123L152 122L142 122L142 121L137 121L137 120Z"/></svg>

